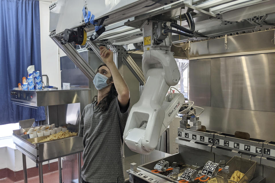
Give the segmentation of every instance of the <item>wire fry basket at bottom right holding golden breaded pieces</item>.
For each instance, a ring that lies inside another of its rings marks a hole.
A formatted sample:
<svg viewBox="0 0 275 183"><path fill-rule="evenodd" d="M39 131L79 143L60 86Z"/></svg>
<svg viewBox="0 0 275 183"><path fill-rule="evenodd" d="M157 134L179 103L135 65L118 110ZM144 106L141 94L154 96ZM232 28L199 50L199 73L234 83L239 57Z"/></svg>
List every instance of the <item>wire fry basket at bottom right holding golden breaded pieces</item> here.
<svg viewBox="0 0 275 183"><path fill-rule="evenodd" d="M229 173L220 171L217 174L218 183L249 183L255 172L256 161L234 156L231 160L229 160L229 162L227 162L226 165L229 166ZM229 180L235 170L239 170L244 173L244 176L238 182Z"/></svg>

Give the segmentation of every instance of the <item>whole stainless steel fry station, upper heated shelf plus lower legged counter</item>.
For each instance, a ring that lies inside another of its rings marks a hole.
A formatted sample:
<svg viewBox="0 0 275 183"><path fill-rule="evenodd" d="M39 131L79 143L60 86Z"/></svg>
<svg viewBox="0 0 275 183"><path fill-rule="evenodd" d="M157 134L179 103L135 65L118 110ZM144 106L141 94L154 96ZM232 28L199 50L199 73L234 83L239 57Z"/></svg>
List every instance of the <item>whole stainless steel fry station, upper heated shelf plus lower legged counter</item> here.
<svg viewBox="0 0 275 183"><path fill-rule="evenodd" d="M78 132L80 115L88 104L91 103L91 89L38 89L38 90L10 90L11 102L16 105L38 108L47 106L48 124L66 126L72 132ZM77 166L72 166L78 172L80 183L80 152L83 151L82 138L78 136L51 140L48 142L32 144L27 139L29 135L23 132L28 130L13 130L13 142L22 152L24 182L27 183L26 156L39 166L39 182L43 182L42 162L58 159L59 182L62 183L61 157L77 154ZM46 137L46 136L45 136ZM43 139L43 137L40 137ZM39 141L39 140L38 140ZM65 173L66 174L66 173Z"/></svg>

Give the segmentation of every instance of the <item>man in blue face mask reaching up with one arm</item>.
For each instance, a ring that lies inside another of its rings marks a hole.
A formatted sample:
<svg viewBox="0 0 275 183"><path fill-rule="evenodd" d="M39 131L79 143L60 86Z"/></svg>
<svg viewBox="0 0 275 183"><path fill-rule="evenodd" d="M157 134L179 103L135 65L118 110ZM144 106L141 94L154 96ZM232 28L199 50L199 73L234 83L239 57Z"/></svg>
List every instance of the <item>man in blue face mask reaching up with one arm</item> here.
<svg viewBox="0 0 275 183"><path fill-rule="evenodd" d="M99 49L105 64L93 80L98 95L84 108L79 124L84 146L81 181L124 182L121 150L130 93L113 62L113 52L103 46Z"/></svg>

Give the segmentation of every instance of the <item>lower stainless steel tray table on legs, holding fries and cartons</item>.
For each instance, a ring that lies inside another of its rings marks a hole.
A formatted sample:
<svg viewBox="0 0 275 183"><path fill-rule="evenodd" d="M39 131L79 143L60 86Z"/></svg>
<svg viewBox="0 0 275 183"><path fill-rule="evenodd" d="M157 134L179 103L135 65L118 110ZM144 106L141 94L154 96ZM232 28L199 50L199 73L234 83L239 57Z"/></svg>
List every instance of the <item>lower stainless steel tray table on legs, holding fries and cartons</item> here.
<svg viewBox="0 0 275 183"><path fill-rule="evenodd" d="M62 183L61 157L76 153L78 154L78 157L80 157L80 152L83 151L82 138L78 136L73 136L32 144L30 141L28 141L28 139L30 138L29 134L23 134L23 132L28 129L29 128L13 130L13 142L16 148L22 152L24 182L28 182L26 167L27 156L34 162L38 163L40 183L43 183L42 162L52 159L58 159L59 182ZM44 139L46 137L47 136L42 136L38 138ZM80 170L80 168L80 163L78 163L78 170ZM80 174L78 176L80 178Z"/></svg>

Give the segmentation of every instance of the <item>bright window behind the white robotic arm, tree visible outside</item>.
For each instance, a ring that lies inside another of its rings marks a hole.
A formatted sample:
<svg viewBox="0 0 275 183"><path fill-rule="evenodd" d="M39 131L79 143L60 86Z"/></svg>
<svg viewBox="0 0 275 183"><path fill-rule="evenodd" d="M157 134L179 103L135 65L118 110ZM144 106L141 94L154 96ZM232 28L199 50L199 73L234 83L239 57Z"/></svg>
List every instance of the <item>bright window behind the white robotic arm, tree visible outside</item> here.
<svg viewBox="0 0 275 183"><path fill-rule="evenodd" d="M188 73L189 73L189 60L185 59L175 59L178 64L178 69L180 71L180 82L178 82L177 85L172 86L175 87L184 95L184 97L188 98L189 96L189 82L188 82ZM176 92L172 89L173 92ZM170 89L168 90L168 93L170 93Z"/></svg>

